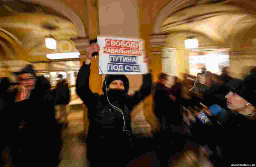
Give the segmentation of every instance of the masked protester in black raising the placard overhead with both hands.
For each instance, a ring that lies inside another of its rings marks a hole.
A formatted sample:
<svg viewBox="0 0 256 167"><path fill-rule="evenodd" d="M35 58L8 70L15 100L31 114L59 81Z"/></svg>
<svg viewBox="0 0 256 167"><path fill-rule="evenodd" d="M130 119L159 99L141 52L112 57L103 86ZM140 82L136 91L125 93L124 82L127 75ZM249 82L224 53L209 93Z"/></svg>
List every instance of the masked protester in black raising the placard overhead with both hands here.
<svg viewBox="0 0 256 167"><path fill-rule="evenodd" d="M125 75L106 75L104 94L93 93L89 87L90 60L92 53L99 50L97 44L88 47L87 60L80 68L76 82L76 92L88 108L90 120L87 157L90 166L125 166L129 160L132 135L130 114L151 93L152 76L144 74L140 90L130 96L127 95L129 80ZM144 57L144 62L148 62L147 57Z"/></svg>

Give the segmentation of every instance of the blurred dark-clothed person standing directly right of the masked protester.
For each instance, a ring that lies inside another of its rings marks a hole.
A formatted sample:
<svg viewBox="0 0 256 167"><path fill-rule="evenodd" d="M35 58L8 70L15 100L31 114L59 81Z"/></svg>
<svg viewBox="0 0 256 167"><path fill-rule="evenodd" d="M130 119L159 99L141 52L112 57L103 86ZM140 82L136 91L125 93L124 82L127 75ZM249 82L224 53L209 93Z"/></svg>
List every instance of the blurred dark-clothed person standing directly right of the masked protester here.
<svg viewBox="0 0 256 167"><path fill-rule="evenodd" d="M170 156L181 150L187 138L182 134L188 133L181 114L181 84L178 77L160 73L153 98L154 113L159 122L158 131L154 134L158 147L156 153L162 166L166 166ZM165 154L167 150L169 154Z"/></svg>

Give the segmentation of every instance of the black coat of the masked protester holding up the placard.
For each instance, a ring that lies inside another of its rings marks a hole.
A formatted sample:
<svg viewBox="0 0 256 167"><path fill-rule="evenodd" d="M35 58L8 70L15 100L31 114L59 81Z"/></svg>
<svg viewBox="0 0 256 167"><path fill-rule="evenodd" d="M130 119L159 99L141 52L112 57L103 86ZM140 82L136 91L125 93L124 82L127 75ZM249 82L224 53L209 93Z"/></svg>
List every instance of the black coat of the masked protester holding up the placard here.
<svg viewBox="0 0 256 167"><path fill-rule="evenodd" d="M90 90L90 66L91 64L83 64L76 82L76 92L87 106L90 120L87 136L87 156L90 160L90 165L94 164L95 166L100 163L105 165L117 163L118 159L122 162L120 159L125 157L130 146L130 138L124 135L123 132L123 116L125 130L132 133L130 113L138 103L151 93L152 77L151 74L143 75L143 84L134 95L125 94L120 98L116 98L115 101L110 101L113 105L121 108L122 115L121 112L109 105L105 94L99 95ZM99 157L101 160L95 159Z"/></svg>

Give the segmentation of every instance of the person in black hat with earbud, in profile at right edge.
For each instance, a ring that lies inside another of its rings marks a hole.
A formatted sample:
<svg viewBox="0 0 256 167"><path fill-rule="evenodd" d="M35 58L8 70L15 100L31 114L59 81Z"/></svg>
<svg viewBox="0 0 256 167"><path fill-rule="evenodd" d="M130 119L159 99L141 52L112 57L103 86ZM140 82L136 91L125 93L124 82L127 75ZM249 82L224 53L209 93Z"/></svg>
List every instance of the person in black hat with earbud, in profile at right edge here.
<svg viewBox="0 0 256 167"><path fill-rule="evenodd" d="M256 101L254 98L254 82L256 75L251 74L242 80L231 80L227 87L230 91L226 95L228 110L218 105L209 109L218 119L218 124L203 128L194 124L190 128L192 134L200 135L202 131L208 136L201 141L220 146L222 158L217 166L231 166L231 164L254 164L255 158L251 150L256 148L253 139L249 136L256 125ZM218 137L218 139L216 138Z"/></svg>

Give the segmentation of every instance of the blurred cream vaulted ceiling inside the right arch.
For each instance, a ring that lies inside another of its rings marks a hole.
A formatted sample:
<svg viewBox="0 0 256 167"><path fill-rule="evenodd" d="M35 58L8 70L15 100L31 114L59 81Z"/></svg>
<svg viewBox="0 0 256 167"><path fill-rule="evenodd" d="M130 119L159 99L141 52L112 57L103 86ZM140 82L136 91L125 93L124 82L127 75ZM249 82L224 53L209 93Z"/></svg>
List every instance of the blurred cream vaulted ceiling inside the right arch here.
<svg viewBox="0 0 256 167"><path fill-rule="evenodd" d="M163 33L194 32L205 35L216 44L233 46L234 40L240 40L255 30L255 2L205 0L190 1L183 6L162 22Z"/></svg>

